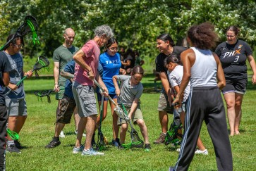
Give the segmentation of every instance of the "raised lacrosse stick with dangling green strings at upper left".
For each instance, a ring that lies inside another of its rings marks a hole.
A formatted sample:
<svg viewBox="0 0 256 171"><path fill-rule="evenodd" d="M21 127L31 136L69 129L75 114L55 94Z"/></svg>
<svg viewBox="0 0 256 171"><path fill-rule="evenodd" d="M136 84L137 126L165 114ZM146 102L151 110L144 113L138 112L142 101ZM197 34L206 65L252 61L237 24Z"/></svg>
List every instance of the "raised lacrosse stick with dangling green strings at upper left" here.
<svg viewBox="0 0 256 171"><path fill-rule="evenodd" d="M18 30L16 31L15 34L13 34L12 38L8 42L6 42L4 46L1 46L0 51L2 51L3 49L6 49L9 46L9 44L13 41L13 39L15 39L16 37L24 37L29 32L32 32L33 43L35 44L37 42L37 44L39 44L36 31L37 31L37 19L35 19L35 17L33 17L32 15L25 16L25 20L23 24L20 25L20 27L18 27Z"/></svg>

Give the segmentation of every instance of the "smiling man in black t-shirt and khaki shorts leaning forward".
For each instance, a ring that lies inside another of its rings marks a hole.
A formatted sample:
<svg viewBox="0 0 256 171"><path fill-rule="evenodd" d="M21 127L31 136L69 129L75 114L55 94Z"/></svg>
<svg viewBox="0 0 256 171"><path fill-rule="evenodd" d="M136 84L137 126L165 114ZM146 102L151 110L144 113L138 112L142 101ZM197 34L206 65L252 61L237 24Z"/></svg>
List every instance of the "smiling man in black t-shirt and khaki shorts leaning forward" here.
<svg viewBox="0 0 256 171"><path fill-rule="evenodd" d="M159 72L159 77L161 78L161 84L163 89L161 89L161 94L159 97L158 108L159 111L159 122L161 125L161 134L160 137L154 141L154 144L164 143L166 132L168 131L168 115L167 113L172 113L170 103L171 103L171 91L170 84L167 77L167 68L165 67L164 61L166 61L167 56L171 53L175 53L178 57L181 52L185 51L187 48L182 46L175 46L173 39L169 34L160 34L157 37L157 48L160 53L157 56L156 63L156 72Z"/></svg>

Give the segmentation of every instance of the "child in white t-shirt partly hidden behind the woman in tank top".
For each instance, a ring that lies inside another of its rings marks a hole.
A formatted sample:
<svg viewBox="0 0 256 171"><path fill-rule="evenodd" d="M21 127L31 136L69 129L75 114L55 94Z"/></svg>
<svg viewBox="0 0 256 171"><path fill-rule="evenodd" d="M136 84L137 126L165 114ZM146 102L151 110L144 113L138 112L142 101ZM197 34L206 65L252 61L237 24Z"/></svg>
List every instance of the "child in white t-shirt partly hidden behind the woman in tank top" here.
<svg viewBox="0 0 256 171"><path fill-rule="evenodd" d="M181 85L181 80L183 77L183 66L180 65L180 60L178 59L176 54L171 53L171 55L166 58L166 68L170 72L168 77L169 77L169 82L171 84L171 89L173 89L175 94L178 94L178 91ZM188 86L185 88L181 107L174 109L174 118L176 116L179 116L181 118L181 123L183 126L184 126L184 120L185 120L185 101L187 101L189 94L190 94L190 82L188 83ZM200 137L198 137L197 139L197 147L199 149L195 151L196 154L208 155L208 151L205 148L205 146L202 144ZM179 151L179 148L177 149L177 151Z"/></svg>

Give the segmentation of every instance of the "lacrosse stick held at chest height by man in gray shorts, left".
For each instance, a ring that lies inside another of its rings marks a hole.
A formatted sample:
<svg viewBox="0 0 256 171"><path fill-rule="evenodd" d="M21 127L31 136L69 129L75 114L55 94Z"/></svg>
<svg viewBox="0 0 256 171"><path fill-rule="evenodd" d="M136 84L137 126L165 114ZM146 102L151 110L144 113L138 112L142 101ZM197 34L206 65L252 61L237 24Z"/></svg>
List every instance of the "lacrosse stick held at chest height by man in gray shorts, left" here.
<svg viewBox="0 0 256 171"><path fill-rule="evenodd" d="M49 61L46 57L44 56L39 56L37 58L37 63L35 63L32 72L35 71L35 76L38 77L38 73L37 70L40 70L42 68L46 68L47 70L49 70ZM23 80L25 80L28 77L28 75L25 75L19 82L17 82L16 86L18 87L18 85L23 82ZM9 91L7 91L6 94L4 94L4 96L6 96L7 94L9 94L12 90L10 89Z"/></svg>

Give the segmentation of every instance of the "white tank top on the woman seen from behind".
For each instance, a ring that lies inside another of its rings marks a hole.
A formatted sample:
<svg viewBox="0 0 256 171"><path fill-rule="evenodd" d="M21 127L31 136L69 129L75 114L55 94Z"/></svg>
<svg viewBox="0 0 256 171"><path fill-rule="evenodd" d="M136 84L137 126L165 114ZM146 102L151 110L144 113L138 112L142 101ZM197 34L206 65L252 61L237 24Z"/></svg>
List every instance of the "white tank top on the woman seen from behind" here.
<svg viewBox="0 0 256 171"><path fill-rule="evenodd" d="M217 63L212 51L191 47L195 52L195 63L191 68L191 87L217 86Z"/></svg>

